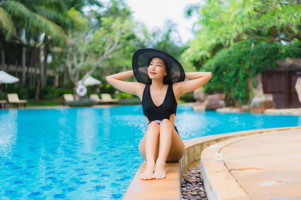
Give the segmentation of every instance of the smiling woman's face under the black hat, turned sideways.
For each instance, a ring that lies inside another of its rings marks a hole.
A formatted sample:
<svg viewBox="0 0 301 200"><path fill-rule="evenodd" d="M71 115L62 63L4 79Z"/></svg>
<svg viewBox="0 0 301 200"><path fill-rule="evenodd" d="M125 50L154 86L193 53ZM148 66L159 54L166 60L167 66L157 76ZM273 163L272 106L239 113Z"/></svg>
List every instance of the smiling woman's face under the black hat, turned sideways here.
<svg viewBox="0 0 301 200"><path fill-rule="evenodd" d="M148 76L151 79L163 79L165 75L167 72L164 60L154 57L148 66Z"/></svg>

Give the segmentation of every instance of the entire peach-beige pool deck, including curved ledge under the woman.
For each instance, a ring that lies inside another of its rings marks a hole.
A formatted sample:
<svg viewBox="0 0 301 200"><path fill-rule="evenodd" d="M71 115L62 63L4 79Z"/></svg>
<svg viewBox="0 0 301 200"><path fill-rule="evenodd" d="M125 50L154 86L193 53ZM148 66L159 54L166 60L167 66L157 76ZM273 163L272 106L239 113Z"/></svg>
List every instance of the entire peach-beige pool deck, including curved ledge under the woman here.
<svg viewBox="0 0 301 200"><path fill-rule="evenodd" d="M181 170L200 163L209 200L301 199L301 126L208 135L184 143L184 156L166 166L166 178L141 180L143 163L123 199L182 199ZM217 152L223 160L215 160Z"/></svg>

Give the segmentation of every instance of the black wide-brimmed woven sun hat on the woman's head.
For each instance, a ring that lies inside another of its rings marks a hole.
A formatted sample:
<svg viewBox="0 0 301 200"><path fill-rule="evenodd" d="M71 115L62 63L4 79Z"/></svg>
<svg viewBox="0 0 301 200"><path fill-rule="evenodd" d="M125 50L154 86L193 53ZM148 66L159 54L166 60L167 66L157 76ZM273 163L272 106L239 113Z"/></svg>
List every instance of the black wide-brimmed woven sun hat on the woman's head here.
<svg viewBox="0 0 301 200"><path fill-rule="evenodd" d="M152 79L148 76L147 68L154 57L160 57L164 60L165 66L168 67L170 72L171 83L185 80L184 68L175 57L155 48L140 48L134 52L132 58L132 68L138 82L144 84L152 83Z"/></svg>

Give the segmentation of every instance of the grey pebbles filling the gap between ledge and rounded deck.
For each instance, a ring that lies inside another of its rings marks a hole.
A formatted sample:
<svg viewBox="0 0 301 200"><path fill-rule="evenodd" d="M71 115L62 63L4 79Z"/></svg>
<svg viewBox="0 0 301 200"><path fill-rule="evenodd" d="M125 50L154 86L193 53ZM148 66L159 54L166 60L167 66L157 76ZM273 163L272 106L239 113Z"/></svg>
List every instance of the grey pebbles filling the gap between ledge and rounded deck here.
<svg viewBox="0 0 301 200"><path fill-rule="evenodd" d="M195 181L189 181L187 178L182 183L182 199L201 199L208 200L204 185L201 181L201 168L200 165L194 168L188 169L186 175L195 178Z"/></svg>

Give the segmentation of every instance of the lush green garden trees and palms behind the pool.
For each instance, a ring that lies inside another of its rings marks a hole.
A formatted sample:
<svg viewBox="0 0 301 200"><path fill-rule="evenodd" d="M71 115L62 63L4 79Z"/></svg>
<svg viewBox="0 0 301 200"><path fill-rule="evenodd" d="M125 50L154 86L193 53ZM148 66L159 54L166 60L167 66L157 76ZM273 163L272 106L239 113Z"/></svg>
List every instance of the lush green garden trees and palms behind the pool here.
<svg viewBox="0 0 301 200"><path fill-rule="evenodd" d="M300 0L200 0L183 7L187 18L198 16L195 38L184 43L175 21L150 31L125 0L1 0L0 70L20 81L2 85L0 98L18 93L29 105L61 104L64 93L75 93L78 81L92 75L101 84L87 94L140 103L105 76L130 70L135 50L154 47L174 55L186 71L211 71L206 93L225 93L228 105L249 103L247 85L256 86L256 74L275 68L276 59L301 57L300 10ZM190 101L192 93L181 97Z"/></svg>

